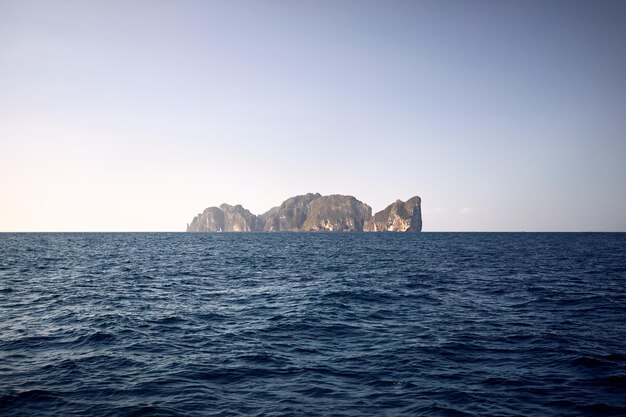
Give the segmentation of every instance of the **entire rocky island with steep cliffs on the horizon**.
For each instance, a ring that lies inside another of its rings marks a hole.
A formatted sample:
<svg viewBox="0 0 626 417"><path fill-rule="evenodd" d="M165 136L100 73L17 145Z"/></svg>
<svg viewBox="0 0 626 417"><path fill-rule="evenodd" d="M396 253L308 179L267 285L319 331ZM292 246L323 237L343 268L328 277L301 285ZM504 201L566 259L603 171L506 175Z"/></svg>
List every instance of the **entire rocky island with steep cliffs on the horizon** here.
<svg viewBox="0 0 626 417"><path fill-rule="evenodd" d="M372 216L372 208L349 195L308 193L288 198L261 215L241 205L209 207L187 232L421 232L421 199L397 200Z"/></svg>

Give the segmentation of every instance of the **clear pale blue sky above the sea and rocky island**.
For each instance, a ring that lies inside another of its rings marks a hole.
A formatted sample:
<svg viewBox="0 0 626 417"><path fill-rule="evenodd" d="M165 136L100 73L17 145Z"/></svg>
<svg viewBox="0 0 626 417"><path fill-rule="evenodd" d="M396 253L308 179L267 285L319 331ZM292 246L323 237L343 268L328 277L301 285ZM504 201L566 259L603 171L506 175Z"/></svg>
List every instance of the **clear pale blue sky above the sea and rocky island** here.
<svg viewBox="0 0 626 417"><path fill-rule="evenodd" d="M626 2L0 0L0 231L296 194L626 231Z"/></svg>

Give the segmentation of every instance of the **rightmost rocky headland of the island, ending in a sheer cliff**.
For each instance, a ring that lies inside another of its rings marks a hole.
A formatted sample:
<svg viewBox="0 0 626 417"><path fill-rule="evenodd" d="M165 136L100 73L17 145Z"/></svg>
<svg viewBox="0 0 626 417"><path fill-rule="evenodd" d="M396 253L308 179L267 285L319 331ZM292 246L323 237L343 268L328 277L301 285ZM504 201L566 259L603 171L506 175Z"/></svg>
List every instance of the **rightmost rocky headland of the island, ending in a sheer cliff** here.
<svg viewBox="0 0 626 417"><path fill-rule="evenodd" d="M413 197L406 202L397 200L365 222L365 232L421 232L421 198Z"/></svg>

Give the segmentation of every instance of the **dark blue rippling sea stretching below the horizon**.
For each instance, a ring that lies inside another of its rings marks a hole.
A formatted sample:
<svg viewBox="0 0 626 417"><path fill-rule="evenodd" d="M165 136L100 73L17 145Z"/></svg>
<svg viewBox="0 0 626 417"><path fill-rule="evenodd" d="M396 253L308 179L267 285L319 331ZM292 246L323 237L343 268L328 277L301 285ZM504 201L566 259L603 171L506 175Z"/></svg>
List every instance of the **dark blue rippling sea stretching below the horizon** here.
<svg viewBox="0 0 626 417"><path fill-rule="evenodd" d="M626 416L626 234L0 234L0 414Z"/></svg>

